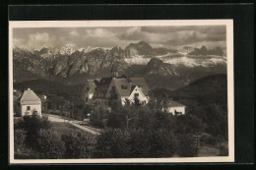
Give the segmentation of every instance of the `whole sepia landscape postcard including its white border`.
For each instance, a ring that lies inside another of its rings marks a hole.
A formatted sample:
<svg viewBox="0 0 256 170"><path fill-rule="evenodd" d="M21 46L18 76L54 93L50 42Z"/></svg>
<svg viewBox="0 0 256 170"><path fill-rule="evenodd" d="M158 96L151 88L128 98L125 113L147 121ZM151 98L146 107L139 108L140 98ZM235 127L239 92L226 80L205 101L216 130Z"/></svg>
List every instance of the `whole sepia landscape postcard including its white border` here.
<svg viewBox="0 0 256 170"><path fill-rule="evenodd" d="M10 163L233 162L232 20L9 22Z"/></svg>

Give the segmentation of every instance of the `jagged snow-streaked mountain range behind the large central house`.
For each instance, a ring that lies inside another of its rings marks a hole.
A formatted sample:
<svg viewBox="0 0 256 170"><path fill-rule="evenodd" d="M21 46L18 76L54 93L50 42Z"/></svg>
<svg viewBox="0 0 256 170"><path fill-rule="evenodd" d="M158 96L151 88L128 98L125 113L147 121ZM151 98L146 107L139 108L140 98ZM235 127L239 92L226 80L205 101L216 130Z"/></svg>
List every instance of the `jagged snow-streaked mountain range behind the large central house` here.
<svg viewBox="0 0 256 170"><path fill-rule="evenodd" d="M87 79L110 76L115 65L119 75L144 77L150 87L176 89L197 79L226 73L226 57L220 47L208 50L185 46L180 50L154 48L145 41L130 43L124 49L76 48L60 50L13 49L14 81L34 79L84 84Z"/></svg>

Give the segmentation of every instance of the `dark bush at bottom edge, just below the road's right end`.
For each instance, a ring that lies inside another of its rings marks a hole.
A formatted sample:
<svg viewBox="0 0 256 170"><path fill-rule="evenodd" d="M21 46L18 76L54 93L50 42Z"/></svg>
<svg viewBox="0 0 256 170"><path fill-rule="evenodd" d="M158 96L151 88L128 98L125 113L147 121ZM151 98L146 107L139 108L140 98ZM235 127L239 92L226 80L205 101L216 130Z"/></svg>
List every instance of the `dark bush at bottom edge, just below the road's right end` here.
<svg viewBox="0 0 256 170"><path fill-rule="evenodd" d="M78 134L75 136L63 135L62 141L65 142L66 146L65 158L90 158L96 143L95 137L79 136Z"/></svg>

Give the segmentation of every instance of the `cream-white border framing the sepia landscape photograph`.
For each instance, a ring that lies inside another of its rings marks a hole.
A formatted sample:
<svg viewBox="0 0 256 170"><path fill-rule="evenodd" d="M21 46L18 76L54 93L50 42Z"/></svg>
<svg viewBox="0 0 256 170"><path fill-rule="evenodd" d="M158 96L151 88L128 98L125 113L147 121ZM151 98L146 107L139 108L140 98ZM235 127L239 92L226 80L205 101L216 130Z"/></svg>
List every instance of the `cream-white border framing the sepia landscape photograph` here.
<svg viewBox="0 0 256 170"><path fill-rule="evenodd" d="M226 26L228 156L184 158L105 158L105 159L14 159L13 118L13 28L96 28L159 26ZM234 89L232 20L137 20L137 21L22 21L9 22L9 162L32 163L189 163L234 162Z"/></svg>

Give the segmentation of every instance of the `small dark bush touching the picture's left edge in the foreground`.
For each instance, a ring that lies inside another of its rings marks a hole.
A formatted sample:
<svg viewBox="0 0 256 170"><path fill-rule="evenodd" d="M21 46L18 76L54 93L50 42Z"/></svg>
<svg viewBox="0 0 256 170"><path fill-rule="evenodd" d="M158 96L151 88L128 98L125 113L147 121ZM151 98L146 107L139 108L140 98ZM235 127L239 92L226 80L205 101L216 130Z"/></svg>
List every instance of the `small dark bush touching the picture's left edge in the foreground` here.
<svg viewBox="0 0 256 170"><path fill-rule="evenodd" d="M26 131L17 129L14 131L14 149L15 151L21 150L25 146Z"/></svg>

